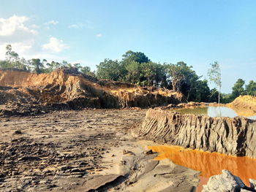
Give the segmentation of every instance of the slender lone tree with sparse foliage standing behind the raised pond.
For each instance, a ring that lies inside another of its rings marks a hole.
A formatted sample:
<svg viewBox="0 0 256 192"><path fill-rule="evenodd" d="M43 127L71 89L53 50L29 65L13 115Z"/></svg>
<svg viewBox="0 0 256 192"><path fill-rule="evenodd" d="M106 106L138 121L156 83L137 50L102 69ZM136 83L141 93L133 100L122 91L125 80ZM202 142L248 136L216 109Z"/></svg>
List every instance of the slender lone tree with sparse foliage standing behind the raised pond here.
<svg viewBox="0 0 256 192"><path fill-rule="evenodd" d="M218 103L219 103L220 91L222 88L222 82L221 82L222 74L221 74L220 67L219 67L219 64L217 61L215 61L214 64L210 64L210 65L211 65L211 69L208 69L208 77L209 77L210 81L214 82L214 84L218 88Z"/></svg>

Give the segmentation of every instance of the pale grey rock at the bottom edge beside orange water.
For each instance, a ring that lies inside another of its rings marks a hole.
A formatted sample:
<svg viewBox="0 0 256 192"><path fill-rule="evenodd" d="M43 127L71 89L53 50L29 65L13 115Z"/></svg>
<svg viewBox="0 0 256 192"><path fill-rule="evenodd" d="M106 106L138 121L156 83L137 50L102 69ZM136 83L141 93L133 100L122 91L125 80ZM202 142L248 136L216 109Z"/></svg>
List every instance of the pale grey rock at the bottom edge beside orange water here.
<svg viewBox="0 0 256 192"><path fill-rule="evenodd" d="M246 188L241 179L224 169L222 174L210 177L207 185L203 185L202 192L238 192L241 188Z"/></svg>

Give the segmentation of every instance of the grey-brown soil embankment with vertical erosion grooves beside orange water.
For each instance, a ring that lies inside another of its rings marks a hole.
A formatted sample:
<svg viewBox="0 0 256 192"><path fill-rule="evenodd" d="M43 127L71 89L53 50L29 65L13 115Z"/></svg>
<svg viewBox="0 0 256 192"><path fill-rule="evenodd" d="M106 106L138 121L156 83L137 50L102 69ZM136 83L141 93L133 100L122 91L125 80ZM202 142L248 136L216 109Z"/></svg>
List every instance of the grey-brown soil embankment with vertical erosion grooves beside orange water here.
<svg viewBox="0 0 256 192"><path fill-rule="evenodd" d="M256 158L256 121L148 110L138 135L159 143Z"/></svg>

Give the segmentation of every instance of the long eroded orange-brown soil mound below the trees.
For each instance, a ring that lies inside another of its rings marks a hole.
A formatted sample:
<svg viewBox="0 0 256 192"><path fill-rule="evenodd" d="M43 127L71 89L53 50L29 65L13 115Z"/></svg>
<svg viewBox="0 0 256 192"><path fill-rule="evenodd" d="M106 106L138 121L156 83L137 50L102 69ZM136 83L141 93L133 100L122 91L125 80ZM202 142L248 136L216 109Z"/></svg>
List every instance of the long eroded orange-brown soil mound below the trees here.
<svg viewBox="0 0 256 192"><path fill-rule="evenodd" d="M48 74L1 69L0 98L0 105L55 104L70 109L155 107L184 101L180 93L97 80L76 68L57 69Z"/></svg>

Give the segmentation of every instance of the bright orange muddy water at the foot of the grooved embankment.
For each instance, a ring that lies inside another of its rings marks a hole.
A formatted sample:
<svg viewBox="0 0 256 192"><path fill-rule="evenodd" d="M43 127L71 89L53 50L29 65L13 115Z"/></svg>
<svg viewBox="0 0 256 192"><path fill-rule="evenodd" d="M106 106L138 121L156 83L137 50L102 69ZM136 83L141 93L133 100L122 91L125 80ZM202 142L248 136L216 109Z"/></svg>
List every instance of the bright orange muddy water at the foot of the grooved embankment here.
<svg viewBox="0 0 256 192"><path fill-rule="evenodd" d="M202 190L209 177L214 174L221 174L222 169L227 169L232 174L240 177L246 185L249 185L249 178L256 179L256 159L253 158L234 157L221 153L184 149L177 146L149 146L148 149L159 153L155 158L156 160L169 158L174 164L200 171L200 183L197 191Z"/></svg>

